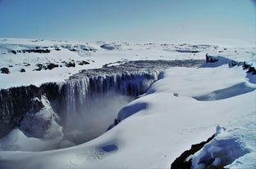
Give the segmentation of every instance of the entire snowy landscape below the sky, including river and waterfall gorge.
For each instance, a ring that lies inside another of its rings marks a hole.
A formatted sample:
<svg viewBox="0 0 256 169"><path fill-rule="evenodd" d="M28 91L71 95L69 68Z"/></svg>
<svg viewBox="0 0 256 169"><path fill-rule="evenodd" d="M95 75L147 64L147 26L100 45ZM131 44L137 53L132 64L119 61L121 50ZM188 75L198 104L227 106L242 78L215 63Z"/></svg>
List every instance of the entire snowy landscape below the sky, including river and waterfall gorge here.
<svg viewBox="0 0 256 169"><path fill-rule="evenodd" d="M256 168L255 47L0 39L0 168Z"/></svg>

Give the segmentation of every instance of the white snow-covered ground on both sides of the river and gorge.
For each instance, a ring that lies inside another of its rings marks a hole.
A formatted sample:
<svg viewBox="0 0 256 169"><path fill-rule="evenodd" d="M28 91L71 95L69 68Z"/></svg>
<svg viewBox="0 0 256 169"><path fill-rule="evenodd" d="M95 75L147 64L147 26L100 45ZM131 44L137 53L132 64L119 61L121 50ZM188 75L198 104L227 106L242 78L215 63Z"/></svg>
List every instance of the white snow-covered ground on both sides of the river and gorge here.
<svg viewBox="0 0 256 169"><path fill-rule="evenodd" d="M11 52L38 46L49 47L51 52ZM78 49L70 51L74 46ZM61 51L56 51L57 47ZM246 61L255 67L255 48L1 39L0 50L0 69L10 70L8 74L0 73L0 88L62 82L80 69L126 60L205 59L206 53L223 57L217 62L222 64L165 70L162 79L143 96L121 109L117 126L94 140L66 149L48 150L49 143L59 141L62 127L58 127L58 117L43 98L45 107L36 119L40 124L42 117L53 118L49 131L54 136L46 134L39 139L18 129L11 131L0 140L0 168L170 168L171 162L190 145L207 140L214 133L216 137L194 154L193 168L212 164L233 169L256 167L256 75L246 73L242 66L226 64L231 60ZM81 60L89 64L66 67L62 63ZM30 65L25 66L24 62ZM49 62L62 67L33 71L36 64ZM63 147L66 144L69 143L63 143Z"/></svg>

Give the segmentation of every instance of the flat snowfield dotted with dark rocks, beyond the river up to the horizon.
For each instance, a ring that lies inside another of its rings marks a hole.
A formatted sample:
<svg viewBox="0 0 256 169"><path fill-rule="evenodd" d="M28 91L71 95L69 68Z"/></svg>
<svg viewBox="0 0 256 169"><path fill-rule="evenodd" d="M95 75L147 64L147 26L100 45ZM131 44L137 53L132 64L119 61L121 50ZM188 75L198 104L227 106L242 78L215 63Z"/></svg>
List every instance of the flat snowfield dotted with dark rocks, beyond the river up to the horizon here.
<svg viewBox="0 0 256 169"><path fill-rule="evenodd" d="M112 50L108 50L106 47L111 47ZM48 49L50 52L16 52L16 54L11 52L37 48ZM224 56L236 61L247 61L254 67L256 65L254 47L0 38L0 69L6 67L11 72L9 74L0 73L0 89L30 84L40 86L44 82L64 82L65 79L78 73L81 69L96 69L101 68L104 64L117 64L121 61L204 60L206 53L213 56ZM89 62L89 64L77 64L78 61L82 60ZM67 68L63 63L64 61L66 63L75 62L75 67ZM47 65L49 63L58 64L59 67L51 70L34 71L38 68L36 64ZM21 69L25 69L25 72L21 73Z"/></svg>

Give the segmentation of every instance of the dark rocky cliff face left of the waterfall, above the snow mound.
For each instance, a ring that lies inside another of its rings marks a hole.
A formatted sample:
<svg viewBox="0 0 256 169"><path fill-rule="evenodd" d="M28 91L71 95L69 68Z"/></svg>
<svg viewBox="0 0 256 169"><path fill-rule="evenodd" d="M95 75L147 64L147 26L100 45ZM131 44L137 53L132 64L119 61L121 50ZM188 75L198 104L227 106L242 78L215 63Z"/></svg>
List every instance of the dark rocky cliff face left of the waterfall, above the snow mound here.
<svg viewBox="0 0 256 169"><path fill-rule="evenodd" d="M48 100L62 98L63 88L57 83L45 83L41 87L12 87L0 90L0 138L9 131L19 127L24 115L31 109L34 113L43 108L40 101L44 95Z"/></svg>

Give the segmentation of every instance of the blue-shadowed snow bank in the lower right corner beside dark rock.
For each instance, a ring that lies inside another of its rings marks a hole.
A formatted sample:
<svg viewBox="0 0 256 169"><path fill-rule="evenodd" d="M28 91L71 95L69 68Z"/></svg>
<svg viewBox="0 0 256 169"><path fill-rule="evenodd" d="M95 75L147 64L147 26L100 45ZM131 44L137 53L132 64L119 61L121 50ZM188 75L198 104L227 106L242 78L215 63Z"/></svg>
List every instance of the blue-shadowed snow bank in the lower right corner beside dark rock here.
<svg viewBox="0 0 256 169"><path fill-rule="evenodd" d="M211 165L254 168L256 149L251 131L256 127L255 115L255 112L247 113L235 118L227 127L217 126L215 138L194 154L192 168L202 169Z"/></svg>

